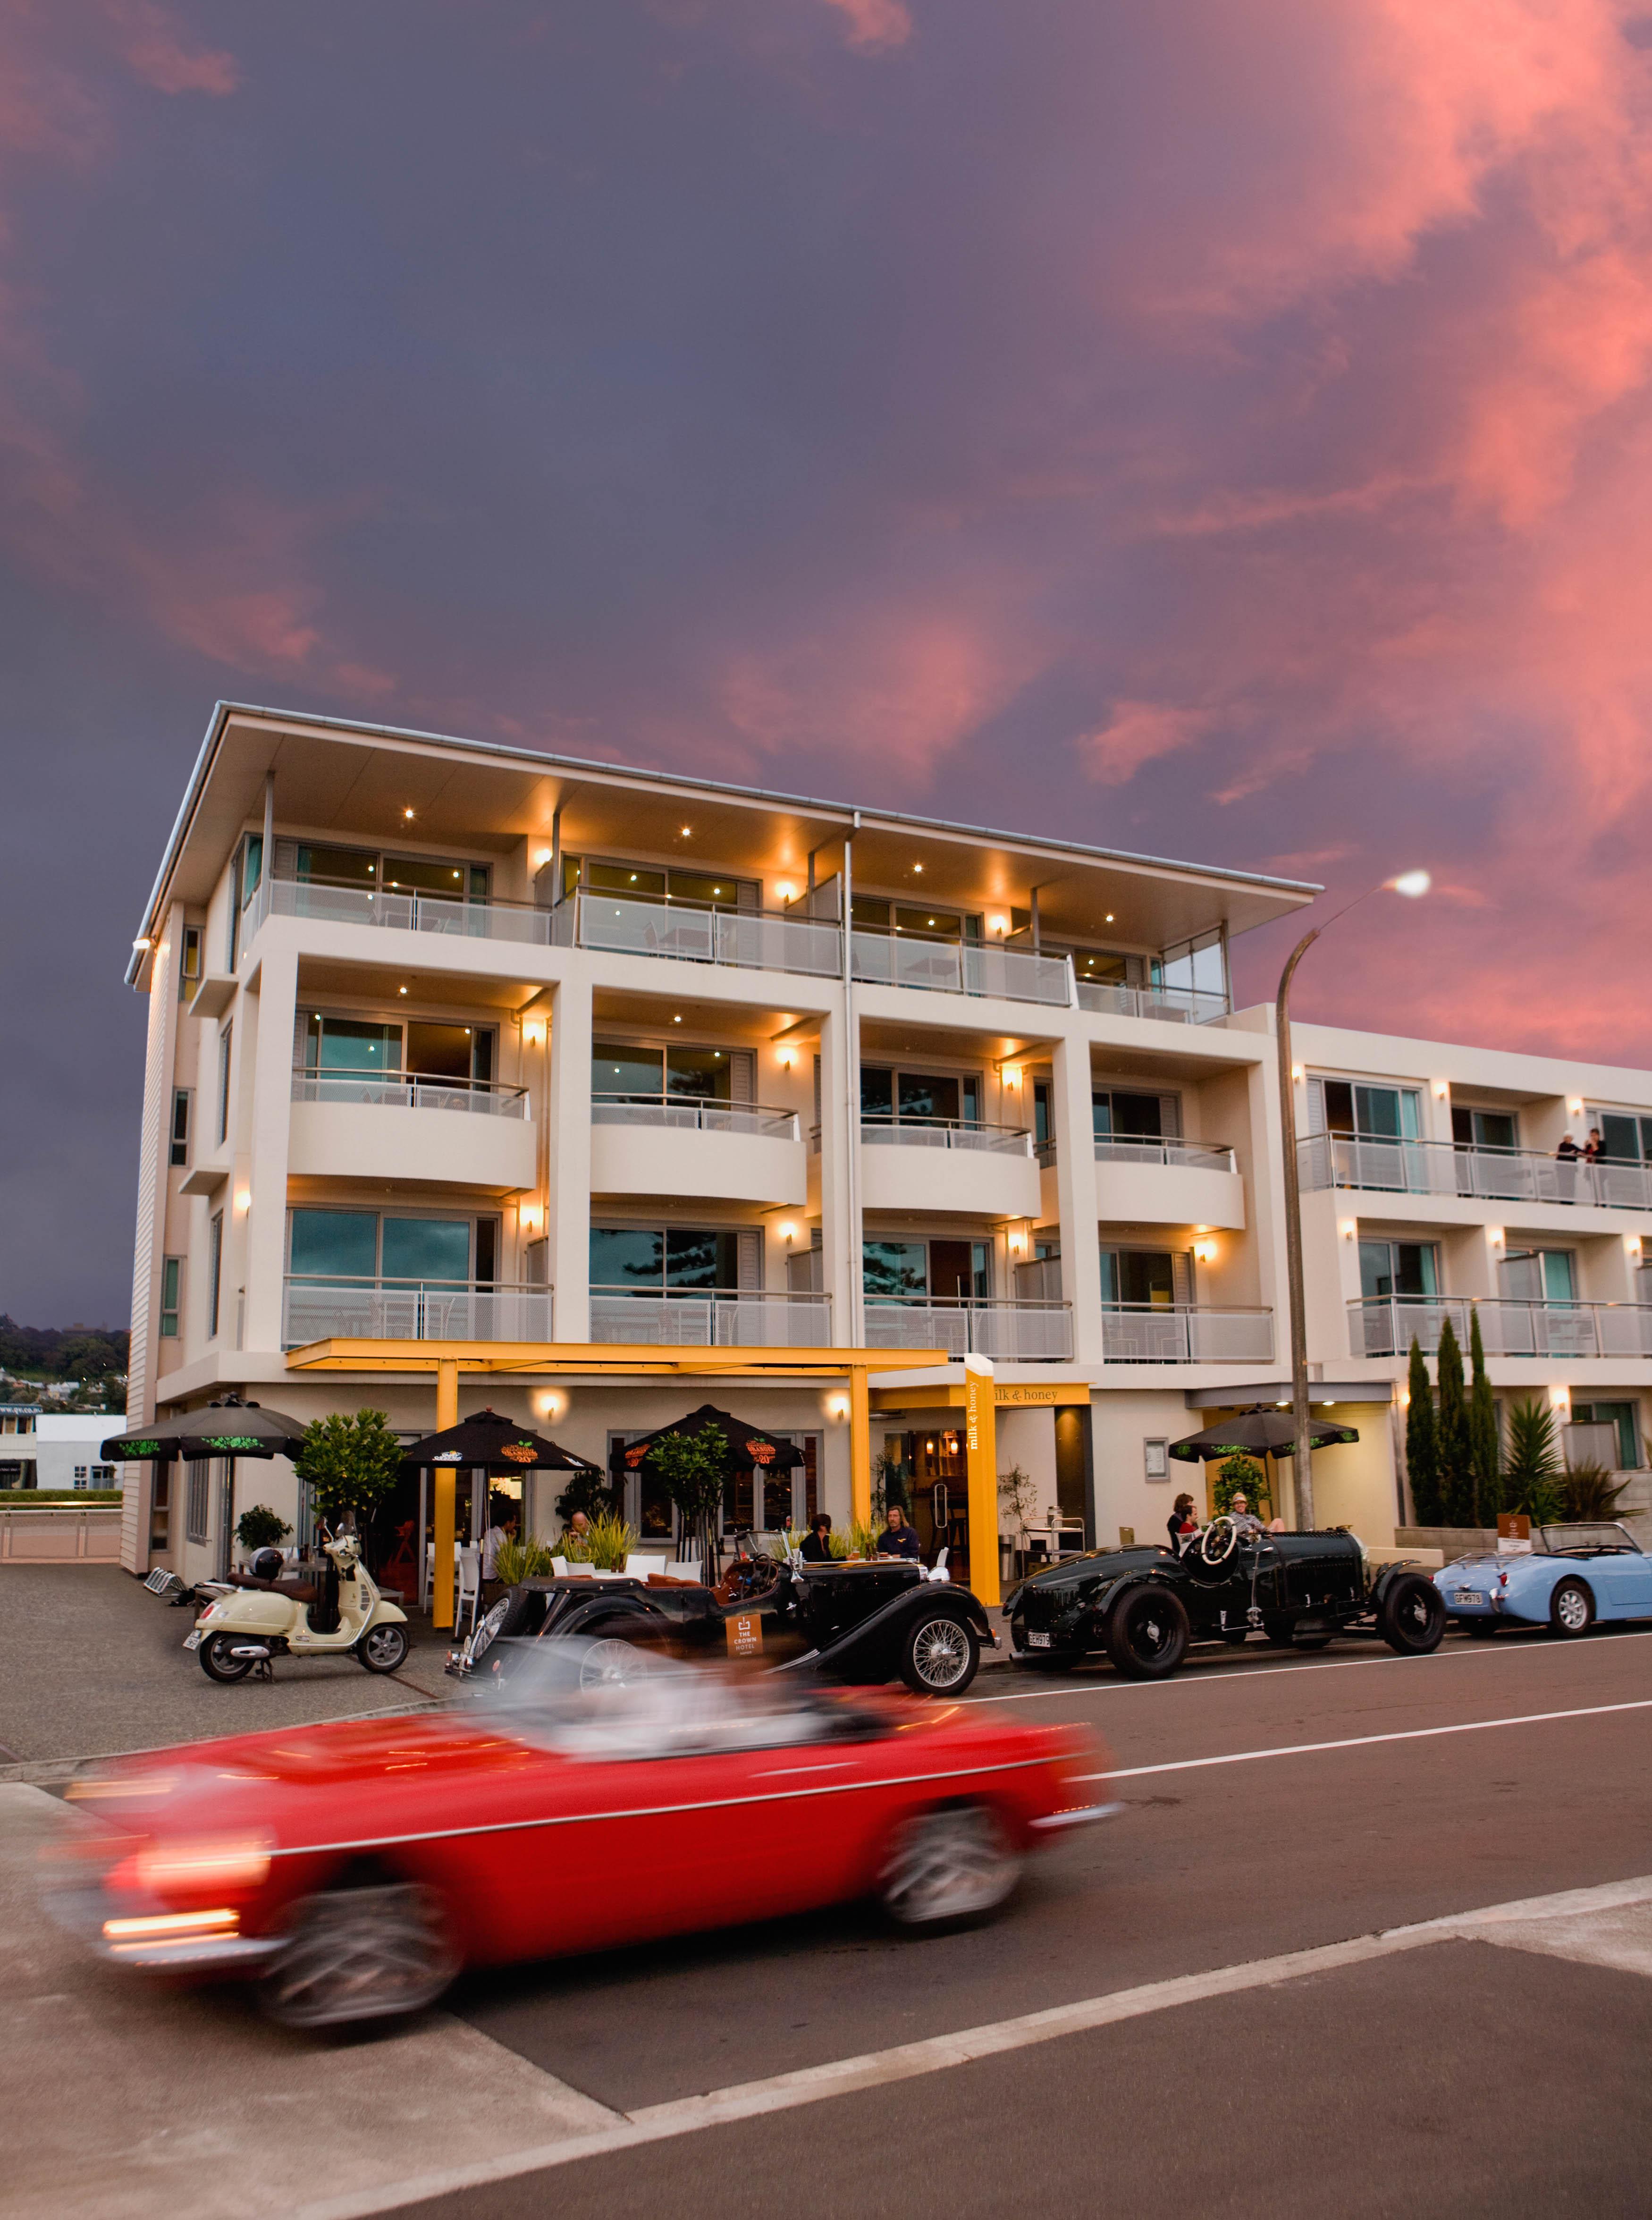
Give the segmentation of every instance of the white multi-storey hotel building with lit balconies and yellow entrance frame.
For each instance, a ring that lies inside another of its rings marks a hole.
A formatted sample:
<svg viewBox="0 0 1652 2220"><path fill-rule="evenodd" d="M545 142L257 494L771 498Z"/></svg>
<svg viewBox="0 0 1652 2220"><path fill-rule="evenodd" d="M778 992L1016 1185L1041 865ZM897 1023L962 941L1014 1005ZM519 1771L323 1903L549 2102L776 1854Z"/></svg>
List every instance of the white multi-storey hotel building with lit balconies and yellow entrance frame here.
<svg viewBox="0 0 1652 2220"><path fill-rule="evenodd" d="M1037 1521L1157 1536L1201 1485L1164 1445L1288 1396L1272 1010L1228 944L1314 892L220 706L129 972L131 1423L235 1390L411 1436L457 1379L606 1461L713 1401L808 1456L739 1523L842 1523L888 1456L957 1547L975 1352ZM1312 1394L1359 1430L1321 1523L1392 1543L1410 1339L1472 1308L1501 1401L1639 1467L1652 1074L1328 1026L1295 1059ZM1557 1161L1590 1126L1605 1161ZM209 1572L215 1476L124 1472L127 1565ZM293 1518L291 1470L249 1501Z"/></svg>

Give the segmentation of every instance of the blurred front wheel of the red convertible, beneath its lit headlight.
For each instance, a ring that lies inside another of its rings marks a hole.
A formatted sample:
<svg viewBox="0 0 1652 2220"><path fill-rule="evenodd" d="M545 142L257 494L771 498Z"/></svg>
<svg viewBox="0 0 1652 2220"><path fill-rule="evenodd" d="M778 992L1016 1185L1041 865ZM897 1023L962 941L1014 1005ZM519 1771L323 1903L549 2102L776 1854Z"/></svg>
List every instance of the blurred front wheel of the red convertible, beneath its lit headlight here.
<svg viewBox="0 0 1652 2220"><path fill-rule="evenodd" d="M260 2002L282 2027L389 2020L433 2005L457 1969L433 1889L326 1889L298 1905Z"/></svg>

